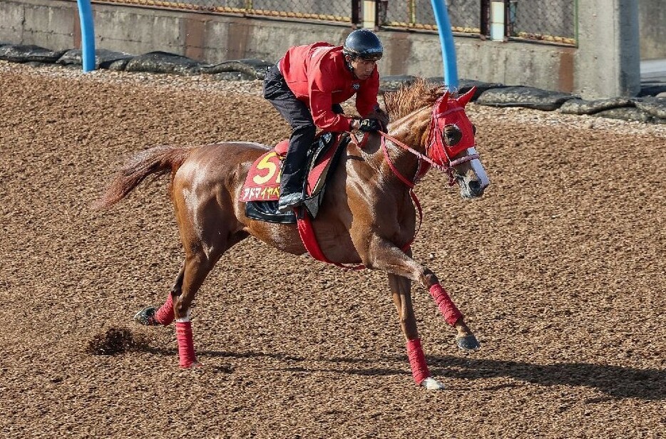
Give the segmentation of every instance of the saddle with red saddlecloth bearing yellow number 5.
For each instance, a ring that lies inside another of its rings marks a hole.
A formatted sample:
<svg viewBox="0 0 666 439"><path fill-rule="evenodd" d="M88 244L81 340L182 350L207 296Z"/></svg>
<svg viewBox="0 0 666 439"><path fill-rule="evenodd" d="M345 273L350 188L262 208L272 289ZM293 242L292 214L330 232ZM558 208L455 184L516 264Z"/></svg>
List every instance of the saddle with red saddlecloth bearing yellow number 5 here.
<svg viewBox="0 0 666 439"><path fill-rule="evenodd" d="M307 155L306 199L300 215L307 215L303 212L305 210L313 219L317 217L324 199L326 182L333 175L332 171L349 140L349 133L322 133L315 138ZM240 192L240 201L245 202L245 215L248 218L281 224L297 222L294 211L277 212L282 159L287 155L288 147L289 140L282 140L252 163Z"/></svg>

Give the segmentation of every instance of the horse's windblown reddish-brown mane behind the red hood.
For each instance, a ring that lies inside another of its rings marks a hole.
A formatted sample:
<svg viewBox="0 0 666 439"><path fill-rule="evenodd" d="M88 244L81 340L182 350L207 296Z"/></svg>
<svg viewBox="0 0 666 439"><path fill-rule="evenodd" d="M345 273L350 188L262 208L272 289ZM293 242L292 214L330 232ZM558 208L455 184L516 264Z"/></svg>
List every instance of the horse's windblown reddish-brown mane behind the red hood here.
<svg viewBox="0 0 666 439"><path fill-rule="evenodd" d="M433 105L446 88L417 78L411 85L403 85L397 91L384 93L384 106L391 120L399 119L414 110Z"/></svg>

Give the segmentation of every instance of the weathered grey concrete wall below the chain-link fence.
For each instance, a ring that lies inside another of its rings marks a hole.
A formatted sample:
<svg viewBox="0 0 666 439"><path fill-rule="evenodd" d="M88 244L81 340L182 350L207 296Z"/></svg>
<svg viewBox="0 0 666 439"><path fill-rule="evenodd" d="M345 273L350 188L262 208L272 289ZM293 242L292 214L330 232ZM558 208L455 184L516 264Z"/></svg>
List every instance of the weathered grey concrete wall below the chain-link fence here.
<svg viewBox="0 0 666 439"><path fill-rule="evenodd" d="M603 6L596 3L607 3L609 0L590 1L595 5L586 6L587 10L595 14L595 6ZM342 42L351 30L349 25L342 24L301 24L118 4L93 4L93 14L97 48L133 54L168 51L209 63L240 58L277 61L294 44ZM601 78L598 75L585 76L585 69L591 67L584 58L597 57L595 51L602 48L608 51L608 44L600 43L605 41L605 36L594 33L598 30L596 28L604 29L608 24L596 24L597 16L590 14L583 13L583 16L588 17L590 26L596 27L592 33L581 33L580 46L585 48L582 51L584 56L581 56L580 50L570 47L456 37L458 77L567 93L584 92L590 98L636 93L632 75L623 76L619 86L615 79L610 81L613 83L611 87L589 86L589 81L609 82L603 75ZM617 18L618 14L615 14L604 19L612 21ZM436 33L380 31L379 36L386 48L386 54L379 63L382 75L443 76L441 48ZM585 38L591 39L585 41ZM52 49L80 47L76 1L1 1L0 41L36 44ZM613 63L617 62L616 55L613 53ZM624 74L615 68L610 71L608 68L593 68L606 75ZM633 68L632 64L630 68ZM640 72L637 74L640 76ZM626 86L626 81L633 82Z"/></svg>

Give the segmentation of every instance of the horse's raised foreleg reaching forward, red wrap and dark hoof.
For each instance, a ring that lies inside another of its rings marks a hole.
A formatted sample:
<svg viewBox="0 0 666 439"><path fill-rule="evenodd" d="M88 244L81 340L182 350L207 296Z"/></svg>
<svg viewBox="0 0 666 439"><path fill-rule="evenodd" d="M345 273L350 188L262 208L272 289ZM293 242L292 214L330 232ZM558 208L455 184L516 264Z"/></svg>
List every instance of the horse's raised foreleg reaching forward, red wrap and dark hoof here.
<svg viewBox="0 0 666 439"><path fill-rule="evenodd" d="M479 347L476 337L465 323L463 314L458 310L454 302L439 283L436 275L411 259L394 244L384 239L371 241L368 257L364 259L366 267L383 269L386 272L406 277L421 283L430 291L439 311L444 316L446 323L454 326L458 334L456 343L459 348L474 350Z"/></svg>

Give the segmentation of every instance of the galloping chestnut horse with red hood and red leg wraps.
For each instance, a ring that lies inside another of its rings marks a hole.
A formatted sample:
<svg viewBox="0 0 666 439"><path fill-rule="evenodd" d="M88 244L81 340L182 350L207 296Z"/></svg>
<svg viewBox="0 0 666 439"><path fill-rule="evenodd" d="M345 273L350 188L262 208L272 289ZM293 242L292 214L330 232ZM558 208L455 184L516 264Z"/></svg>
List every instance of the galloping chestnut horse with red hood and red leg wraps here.
<svg viewBox="0 0 666 439"><path fill-rule="evenodd" d="M347 145L327 182L312 229L327 262L382 270L417 386L442 389L429 372L411 303L411 283L429 290L445 321L456 331L458 348L479 348L449 294L434 272L412 259L409 244L422 218L414 195L416 182L431 168L458 184L463 199L481 197L488 177L476 153L476 128L465 112L475 89L457 96L424 79L384 93L390 116L386 132L369 133ZM350 133L349 135L351 135ZM139 311L135 320L169 325L175 320L181 368L200 366L196 359L190 305L215 263L250 235L294 255L307 252L296 224L278 224L245 215L240 192L250 166L272 147L225 142L194 147L158 146L135 154L116 172L96 208L108 209L148 175L170 173L169 193L185 260L165 303ZM418 215L417 215L418 213ZM417 217L418 220L417 220Z"/></svg>

